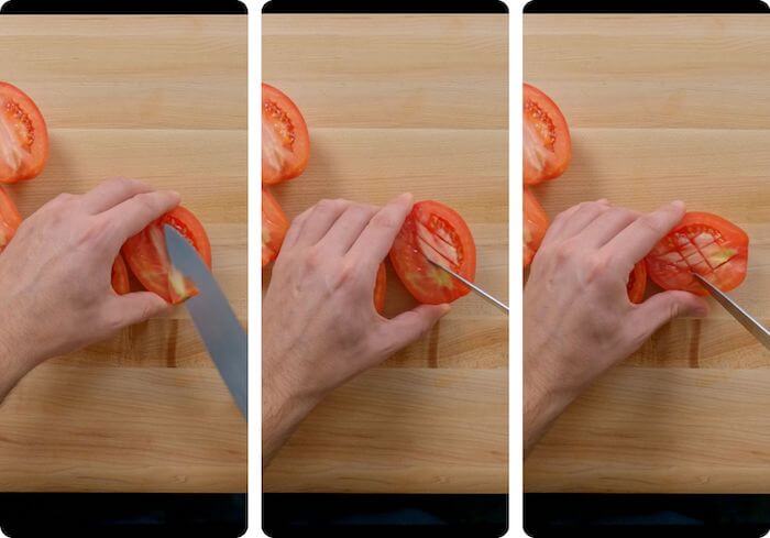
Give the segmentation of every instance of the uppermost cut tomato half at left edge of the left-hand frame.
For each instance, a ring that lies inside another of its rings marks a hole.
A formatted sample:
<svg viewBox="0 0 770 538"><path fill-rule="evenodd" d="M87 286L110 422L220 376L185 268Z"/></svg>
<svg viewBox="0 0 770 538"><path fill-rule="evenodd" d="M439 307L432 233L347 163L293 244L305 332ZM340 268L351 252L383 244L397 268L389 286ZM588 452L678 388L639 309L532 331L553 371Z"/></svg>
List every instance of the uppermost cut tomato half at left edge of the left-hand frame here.
<svg viewBox="0 0 770 538"><path fill-rule="evenodd" d="M22 90L0 83L0 183L32 179L48 158L48 130Z"/></svg>

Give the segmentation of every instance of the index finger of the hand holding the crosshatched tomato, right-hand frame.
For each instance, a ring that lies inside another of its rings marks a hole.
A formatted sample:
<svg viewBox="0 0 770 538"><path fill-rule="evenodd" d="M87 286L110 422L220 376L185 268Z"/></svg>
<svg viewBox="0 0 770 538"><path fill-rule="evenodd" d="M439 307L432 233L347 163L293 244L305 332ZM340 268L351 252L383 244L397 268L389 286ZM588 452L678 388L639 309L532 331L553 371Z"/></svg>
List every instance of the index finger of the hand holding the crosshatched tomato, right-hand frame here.
<svg viewBox="0 0 770 538"><path fill-rule="evenodd" d="M637 218L601 250L610 253L610 257L624 266L631 267L649 254L658 241L663 239L683 216L683 201L667 204L651 213Z"/></svg>

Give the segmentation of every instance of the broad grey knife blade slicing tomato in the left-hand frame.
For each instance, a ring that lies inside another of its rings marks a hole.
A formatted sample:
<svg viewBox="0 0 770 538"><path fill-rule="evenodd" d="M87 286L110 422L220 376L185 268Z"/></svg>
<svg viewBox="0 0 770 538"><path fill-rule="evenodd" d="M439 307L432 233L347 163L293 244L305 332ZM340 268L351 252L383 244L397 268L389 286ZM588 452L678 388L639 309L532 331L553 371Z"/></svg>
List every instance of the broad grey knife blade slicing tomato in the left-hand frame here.
<svg viewBox="0 0 770 538"><path fill-rule="evenodd" d="M170 226L164 224L163 232L172 263L198 288L198 295L185 301L187 311L232 398L248 420L246 333L198 251Z"/></svg>

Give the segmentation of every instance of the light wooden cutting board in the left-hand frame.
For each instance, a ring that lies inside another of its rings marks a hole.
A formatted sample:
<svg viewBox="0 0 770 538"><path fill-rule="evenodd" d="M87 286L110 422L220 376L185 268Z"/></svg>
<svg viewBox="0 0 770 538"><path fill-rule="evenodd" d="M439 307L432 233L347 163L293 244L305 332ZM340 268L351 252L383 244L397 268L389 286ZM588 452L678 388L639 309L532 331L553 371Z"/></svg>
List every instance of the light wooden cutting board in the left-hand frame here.
<svg viewBox="0 0 770 538"><path fill-rule="evenodd" d="M245 17L0 17L51 133L23 216L131 176L204 222L246 322ZM184 308L40 366L0 406L0 490L243 492L246 427Z"/></svg>

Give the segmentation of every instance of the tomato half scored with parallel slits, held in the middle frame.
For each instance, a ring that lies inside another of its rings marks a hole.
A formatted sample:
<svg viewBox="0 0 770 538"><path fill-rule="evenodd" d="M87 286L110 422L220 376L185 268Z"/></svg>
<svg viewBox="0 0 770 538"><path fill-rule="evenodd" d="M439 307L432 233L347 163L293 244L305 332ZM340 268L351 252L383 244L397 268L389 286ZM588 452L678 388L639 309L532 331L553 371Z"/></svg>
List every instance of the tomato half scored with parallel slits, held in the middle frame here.
<svg viewBox="0 0 770 538"><path fill-rule="evenodd" d="M420 303L450 303L470 292L428 259L471 282L476 274L476 245L471 230L457 211L438 201L415 204L389 256L398 278Z"/></svg>

